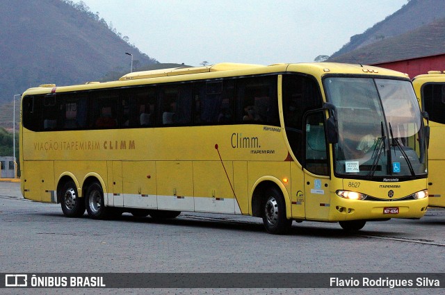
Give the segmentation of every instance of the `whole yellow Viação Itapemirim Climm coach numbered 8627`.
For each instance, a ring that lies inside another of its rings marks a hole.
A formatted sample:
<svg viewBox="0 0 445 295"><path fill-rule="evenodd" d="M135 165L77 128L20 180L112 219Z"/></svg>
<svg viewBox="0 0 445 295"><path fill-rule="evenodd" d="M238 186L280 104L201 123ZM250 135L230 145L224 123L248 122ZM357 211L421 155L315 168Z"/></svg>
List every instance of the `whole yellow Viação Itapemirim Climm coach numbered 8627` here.
<svg viewBox="0 0 445 295"><path fill-rule="evenodd" d="M295 221L419 219L426 129L412 83L361 65L221 63L22 96L26 199L67 217L181 211Z"/></svg>

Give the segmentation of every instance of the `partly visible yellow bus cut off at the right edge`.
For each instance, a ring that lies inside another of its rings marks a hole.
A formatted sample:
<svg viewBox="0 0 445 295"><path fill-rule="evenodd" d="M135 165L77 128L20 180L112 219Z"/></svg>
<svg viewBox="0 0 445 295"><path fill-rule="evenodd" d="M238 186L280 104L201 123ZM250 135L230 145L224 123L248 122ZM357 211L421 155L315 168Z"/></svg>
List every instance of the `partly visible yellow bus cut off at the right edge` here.
<svg viewBox="0 0 445 295"><path fill-rule="evenodd" d="M430 207L445 208L445 155L442 136L445 136L445 74L428 71L413 78L414 91L421 99L421 108L430 120L428 192Z"/></svg>

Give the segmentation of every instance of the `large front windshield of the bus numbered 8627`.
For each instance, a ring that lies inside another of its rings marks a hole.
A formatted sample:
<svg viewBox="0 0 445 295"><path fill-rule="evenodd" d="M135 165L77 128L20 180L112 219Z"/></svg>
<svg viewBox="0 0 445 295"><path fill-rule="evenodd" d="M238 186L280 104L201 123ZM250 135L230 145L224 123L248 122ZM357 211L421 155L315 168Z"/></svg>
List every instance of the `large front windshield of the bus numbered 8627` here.
<svg viewBox="0 0 445 295"><path fill-rule="evenodd" d="M348 178L426 176L426 142L409 81L329 77L327 101L337 108L334 171Z"/></svg>

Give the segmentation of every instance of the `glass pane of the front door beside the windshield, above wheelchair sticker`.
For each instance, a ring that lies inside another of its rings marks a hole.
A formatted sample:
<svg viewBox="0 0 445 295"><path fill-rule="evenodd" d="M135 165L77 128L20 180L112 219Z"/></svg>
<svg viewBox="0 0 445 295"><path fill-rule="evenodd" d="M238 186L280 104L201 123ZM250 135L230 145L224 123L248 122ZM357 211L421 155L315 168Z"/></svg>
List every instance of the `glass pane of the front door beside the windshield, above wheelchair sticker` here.
<svg viewBox="0 0 445 295"><path fill-rule="evenodd" d="M323 112L314 112L305 120L305 168L318 175L329 175Z"/></svg>

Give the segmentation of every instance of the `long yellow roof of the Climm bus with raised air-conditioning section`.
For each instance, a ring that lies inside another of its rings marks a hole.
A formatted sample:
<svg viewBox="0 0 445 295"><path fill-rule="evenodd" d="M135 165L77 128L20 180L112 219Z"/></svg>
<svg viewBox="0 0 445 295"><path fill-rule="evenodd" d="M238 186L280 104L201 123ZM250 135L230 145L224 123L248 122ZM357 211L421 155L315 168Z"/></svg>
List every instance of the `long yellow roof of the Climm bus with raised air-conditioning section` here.
<svg viewBox="0 0 445 295"><path fill-rule="evenodd" d="M283 73L286 71L324 76L326 74L369 74L380 76L395 76L408 78L403 74L391 69L383 69L370 65L353 65L336 62L308 62L308 63L280 63L273 65L252 65L223 62L206 67L175 67L170 69L156 69L152 71L136 71L122 76L119 81L104 83L88 82L83 85L70 85L56 87L55 84L44 84L26 90L24 94L48 94L56 92L93 90L109 87L122 87L124 85L140 85L151 83L166 83L175 81L203 80L209 78L225 78L231 76L244 76L254 74ZM218 74L219 73L219 74ZM173 78L181 76L180 78ZM143 80L147 82L143 82Z"/></svg>

